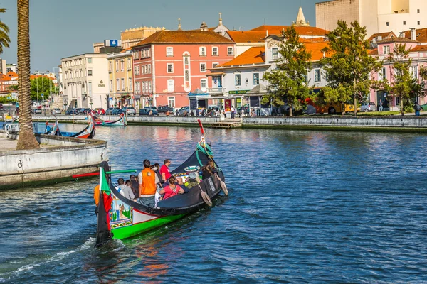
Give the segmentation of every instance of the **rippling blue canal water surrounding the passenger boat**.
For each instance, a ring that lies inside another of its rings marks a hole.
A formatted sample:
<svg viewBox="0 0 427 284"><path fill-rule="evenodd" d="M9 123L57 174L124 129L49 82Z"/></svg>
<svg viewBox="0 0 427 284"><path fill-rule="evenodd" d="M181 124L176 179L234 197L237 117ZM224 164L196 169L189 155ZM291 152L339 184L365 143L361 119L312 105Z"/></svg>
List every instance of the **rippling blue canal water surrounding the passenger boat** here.
<svg viewBox="0 0 427 284"><path fill-rule="evenodd" d="M101 249L93 248L96 179L0 192L0 283L427 282L427 136L207 135L230 195ZM199 137L161 126L96 132L114 170L140 169L144 158L179 165Z"/></svg>

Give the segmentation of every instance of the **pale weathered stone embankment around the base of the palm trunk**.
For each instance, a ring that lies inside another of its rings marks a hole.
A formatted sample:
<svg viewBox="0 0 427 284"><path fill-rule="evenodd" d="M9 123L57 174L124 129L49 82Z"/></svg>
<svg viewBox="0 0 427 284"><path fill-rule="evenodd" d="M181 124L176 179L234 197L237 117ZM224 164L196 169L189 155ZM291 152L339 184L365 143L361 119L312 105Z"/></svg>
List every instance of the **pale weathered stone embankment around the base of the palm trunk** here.
<svg viewBox="0 0 427 284"><path fill-rule="evenodd" d="M17 136L15 138L18 138ZM16 141L0 131L0 189L70 180L71 175L97 171L107 160L107 142L36 135L41 148L11 150Z"/></svg>

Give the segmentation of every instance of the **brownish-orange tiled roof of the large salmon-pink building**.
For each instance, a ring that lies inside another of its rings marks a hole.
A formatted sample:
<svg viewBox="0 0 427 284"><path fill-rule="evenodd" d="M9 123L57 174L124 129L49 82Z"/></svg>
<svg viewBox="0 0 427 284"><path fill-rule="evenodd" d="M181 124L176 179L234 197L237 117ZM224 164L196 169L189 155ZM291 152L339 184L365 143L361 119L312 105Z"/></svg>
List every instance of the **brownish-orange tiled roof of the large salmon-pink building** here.
<svg viewBox="0 0 427 284"><path fill-rule="evenodd" d="M156 43L233 43L233 41L213 31L158 31L132 48Z"/></svg>

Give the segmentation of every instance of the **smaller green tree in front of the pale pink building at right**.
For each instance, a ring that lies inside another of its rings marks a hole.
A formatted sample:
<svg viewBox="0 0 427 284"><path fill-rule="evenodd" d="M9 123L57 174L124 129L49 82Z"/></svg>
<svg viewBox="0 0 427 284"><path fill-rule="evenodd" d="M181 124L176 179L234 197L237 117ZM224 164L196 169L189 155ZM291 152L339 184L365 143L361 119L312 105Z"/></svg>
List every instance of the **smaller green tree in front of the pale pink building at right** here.
<svg viewBox="0 0 427 284"><path fill-rule="evenodd" d="M393 97L399 97L401 115L403 116L405 109L413 107L417 97L426 96L424 82L411 74L412 59L409 57L409 49L406 49L406 45L394 46L393 52L386 58L386 62L393 67L391 72L394 80L386 84L384 89ZM421 77L425 78L425 73L424 68L421 68Z"/></svg>

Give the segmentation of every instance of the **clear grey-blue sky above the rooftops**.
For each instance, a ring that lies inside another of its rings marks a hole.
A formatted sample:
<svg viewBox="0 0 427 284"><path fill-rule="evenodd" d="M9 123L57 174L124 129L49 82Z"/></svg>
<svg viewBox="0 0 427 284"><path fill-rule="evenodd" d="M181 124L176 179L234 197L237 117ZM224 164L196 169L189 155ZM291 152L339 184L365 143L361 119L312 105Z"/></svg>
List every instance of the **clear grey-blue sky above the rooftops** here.
<svg viewBox="0 0 427 284"><path fill-rule="evenodd" d="M119 39L120 31L140 26L176 30L199 28L202 21L218 26L218 13L229 29L245 31L267 25L292 24L302 6L315 26L319 0L30 0L31 72L58 72L60 59L93 53L93 43ZM0 0L7 11L0 20L10 28L11 46L0 58L16 63L16 0Z"/></svg>

